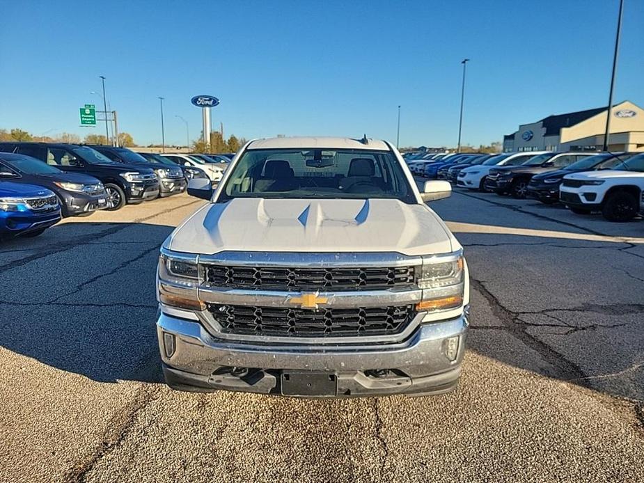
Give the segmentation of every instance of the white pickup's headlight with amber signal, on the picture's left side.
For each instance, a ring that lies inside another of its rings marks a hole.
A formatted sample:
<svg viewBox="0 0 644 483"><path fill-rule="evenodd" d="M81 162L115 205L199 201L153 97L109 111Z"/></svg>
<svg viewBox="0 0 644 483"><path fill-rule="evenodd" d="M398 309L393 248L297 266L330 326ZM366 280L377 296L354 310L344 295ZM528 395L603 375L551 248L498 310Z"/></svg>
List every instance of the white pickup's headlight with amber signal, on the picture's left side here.
<svg viewBox="0 0 644 483"><path fill-rule="evenodd" d="M157 270L159 302L167 306L204 310L198 299L199 268L196 255L161 250Z"/></svg>

